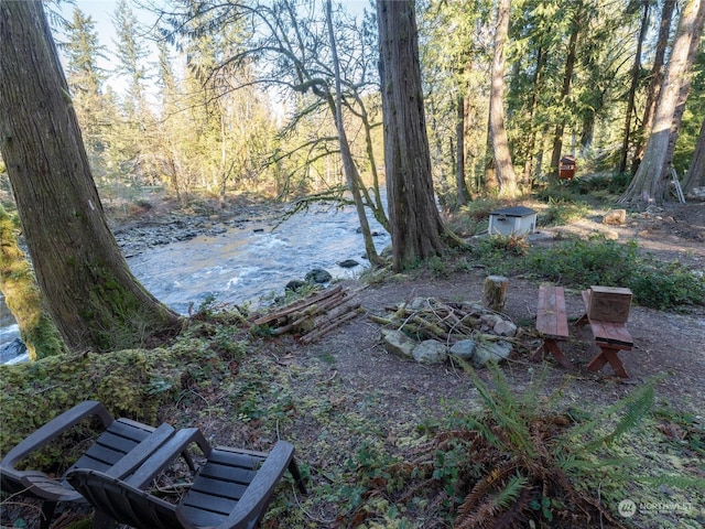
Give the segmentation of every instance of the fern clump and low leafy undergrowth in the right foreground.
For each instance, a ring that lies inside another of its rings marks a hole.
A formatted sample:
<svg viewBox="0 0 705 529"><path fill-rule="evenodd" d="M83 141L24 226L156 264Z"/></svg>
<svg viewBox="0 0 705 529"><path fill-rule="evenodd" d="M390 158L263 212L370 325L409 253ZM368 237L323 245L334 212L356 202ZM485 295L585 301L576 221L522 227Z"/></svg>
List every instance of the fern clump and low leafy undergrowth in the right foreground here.
<svg viewBox="0 0 705 529"><path fill-rule="evenodd" d="M558 393L544 396L542 382L517 395L499 368L492 368L490 382L466 369L484 411L456 413L427 443L391 464L380 464L381 454L377 460L358 455L355 478L367 488L368 501L356 509L351 527L389 519L390 506L406 516L424 511L425 519L436 512L438 525L457 529L596 527L598 520L623 527L592 490L574 483L595 469L612 481L633 478L621 473L633 460L601 451L640 427L651 409L653 385L601 411L556 411Z"/></svg>

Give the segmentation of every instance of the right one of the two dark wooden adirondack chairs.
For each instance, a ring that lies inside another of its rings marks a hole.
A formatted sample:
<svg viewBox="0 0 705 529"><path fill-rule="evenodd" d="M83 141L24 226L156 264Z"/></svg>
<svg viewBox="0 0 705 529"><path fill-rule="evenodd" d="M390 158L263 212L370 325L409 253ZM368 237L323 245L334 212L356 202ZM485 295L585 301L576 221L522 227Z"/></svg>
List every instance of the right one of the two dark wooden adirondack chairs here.
<svg viewBox="0 0 705 529"><path fill-rule="evenodd" d="M264 516L286 468L306 493L294 447L284 441L269 454L219 446L206 455L193 485L176 505L141 490L130 478L122 481L100 471L74 468L67 479L97 512L137 529L251 529Z"/></svg>

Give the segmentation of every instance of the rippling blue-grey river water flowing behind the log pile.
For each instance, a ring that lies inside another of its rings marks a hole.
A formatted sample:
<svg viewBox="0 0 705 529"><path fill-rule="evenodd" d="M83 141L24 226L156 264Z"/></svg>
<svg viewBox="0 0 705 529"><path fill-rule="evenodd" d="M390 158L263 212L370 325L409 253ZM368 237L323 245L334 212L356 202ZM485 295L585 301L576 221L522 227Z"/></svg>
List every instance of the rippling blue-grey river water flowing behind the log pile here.
<svg viewBox="0 0 705 529"><path fill-rule="evenodd" d="M390 237L373 219L369 222L378 234L373 239L379 252ZM276 227L271 220L257 220L231 225L217 236L151 248L128 258L128 264L154 296L182 314L209 299L259 306L312 269L324 269L333 278L359 276L368 263L358 227L354 207L312 207ZM338 266L346 259L360 266ZM0 344L9 344L19 331L2 300L0 315ZM1 355L1 363L22 359Z"/></svg>

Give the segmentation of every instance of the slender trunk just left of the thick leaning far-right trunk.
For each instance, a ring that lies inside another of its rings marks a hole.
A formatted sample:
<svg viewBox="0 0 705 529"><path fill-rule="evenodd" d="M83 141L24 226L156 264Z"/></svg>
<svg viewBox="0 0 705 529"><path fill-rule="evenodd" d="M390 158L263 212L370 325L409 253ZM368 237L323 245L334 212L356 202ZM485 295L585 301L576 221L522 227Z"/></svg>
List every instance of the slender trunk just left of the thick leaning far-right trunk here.
<svg viewBox="0 0 705 529"><path fill-rule="evenodd" d="M631 174L637 173L643 151L647 147L647 139L653 127L653 119L657 112L657 102L661 94L663 85L663 76L665 71L665 52L669 47L669 37L671 35L671 22L675 10L676 0L663 0L661 9L661 23L659 25L659 37L657 40L657 51L653 56L653 65L649 74L649 86L647 87L647 102L644 104L643 118L641 119L641 129L639 142L634 148L634 159L631 163Z"/></svg>

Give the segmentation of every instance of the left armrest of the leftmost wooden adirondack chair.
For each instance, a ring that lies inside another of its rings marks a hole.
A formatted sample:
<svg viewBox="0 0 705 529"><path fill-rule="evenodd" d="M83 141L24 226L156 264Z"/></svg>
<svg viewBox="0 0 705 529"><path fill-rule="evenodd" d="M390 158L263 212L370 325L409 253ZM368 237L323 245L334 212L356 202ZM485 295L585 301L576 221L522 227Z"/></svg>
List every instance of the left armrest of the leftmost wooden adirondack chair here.
<svg viewBox="0 0 705 529"><path fill-rule="evenodd" d="M2 472L6 473L7 469L14 469L14 464L18 461L35 452L41 446L56 439L59 434L90 415L97 415L106 428L115 420L108 410L106 410L105 406L96 400L87 400L80 404L76 404L70 410L55 417L39 430L32 432L23 439L20 444L8 452L2 458L2 462L0 462Z"/></svg>

